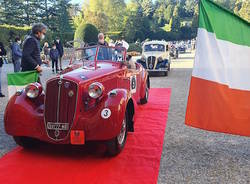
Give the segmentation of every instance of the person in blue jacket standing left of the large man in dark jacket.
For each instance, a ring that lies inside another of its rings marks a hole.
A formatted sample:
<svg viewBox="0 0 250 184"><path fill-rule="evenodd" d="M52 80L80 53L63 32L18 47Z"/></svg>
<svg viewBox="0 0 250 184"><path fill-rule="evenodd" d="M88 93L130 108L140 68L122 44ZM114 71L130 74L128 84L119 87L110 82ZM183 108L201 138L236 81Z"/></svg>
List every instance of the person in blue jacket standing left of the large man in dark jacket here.
<svg viewBox="0 0 250 184"><path fill-rule="evenodd" d="M20 48L20 45L21 45L21 39L17 37L11 47L14 72L20 72L21 70L22 50Z"/></svg>

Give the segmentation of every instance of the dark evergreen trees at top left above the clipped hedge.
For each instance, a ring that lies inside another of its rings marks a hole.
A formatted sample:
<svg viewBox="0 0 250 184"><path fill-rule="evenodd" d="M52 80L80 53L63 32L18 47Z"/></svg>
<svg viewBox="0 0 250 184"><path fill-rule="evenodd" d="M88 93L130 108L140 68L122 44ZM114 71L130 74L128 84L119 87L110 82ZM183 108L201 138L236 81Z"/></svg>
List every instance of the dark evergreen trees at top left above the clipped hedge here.
<svg viewBox="0 0 250 184"><path fill-rule="evenodd" d="M74 36L69 2L70 0L2 0L0 24L23 27L43 22L53 35L60 36L62 41L69 41Z"/></svg>

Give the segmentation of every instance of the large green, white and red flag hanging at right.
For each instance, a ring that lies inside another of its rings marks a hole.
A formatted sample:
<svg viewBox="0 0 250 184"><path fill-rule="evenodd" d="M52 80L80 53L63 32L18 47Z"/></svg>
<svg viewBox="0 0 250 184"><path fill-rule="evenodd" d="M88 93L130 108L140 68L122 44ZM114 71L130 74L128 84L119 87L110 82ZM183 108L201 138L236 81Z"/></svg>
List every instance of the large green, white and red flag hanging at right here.
<svg viewBox="0 0 250 184"><path fill-rule="evenodd" d="M186 124L250 136L250 23L200 0Z"/></svg>

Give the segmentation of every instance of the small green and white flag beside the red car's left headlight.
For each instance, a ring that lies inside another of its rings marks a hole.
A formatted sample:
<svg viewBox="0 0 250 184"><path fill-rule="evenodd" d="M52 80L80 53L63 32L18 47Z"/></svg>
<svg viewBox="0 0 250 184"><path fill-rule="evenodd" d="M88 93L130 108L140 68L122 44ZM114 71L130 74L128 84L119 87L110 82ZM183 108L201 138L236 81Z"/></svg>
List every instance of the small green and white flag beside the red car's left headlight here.
<svg viewBox="0 0 250 184"><path fill-rule="evenodd" d="M37 71L9 73L7 74L9 99L28 84L38 81Z"/></svg>

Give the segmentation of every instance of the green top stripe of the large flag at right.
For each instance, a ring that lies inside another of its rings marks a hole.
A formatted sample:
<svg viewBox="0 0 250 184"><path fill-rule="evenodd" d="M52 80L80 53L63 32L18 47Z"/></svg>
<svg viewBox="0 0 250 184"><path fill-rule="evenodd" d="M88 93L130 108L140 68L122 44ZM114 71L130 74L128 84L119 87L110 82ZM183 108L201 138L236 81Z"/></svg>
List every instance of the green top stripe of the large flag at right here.
<svg viewBox="0 0 250 184"><path fill-rule="evenodd" d="M250 46L250 23L211 0L200 0L199 28L215 33L218 39Z"/></svg>

